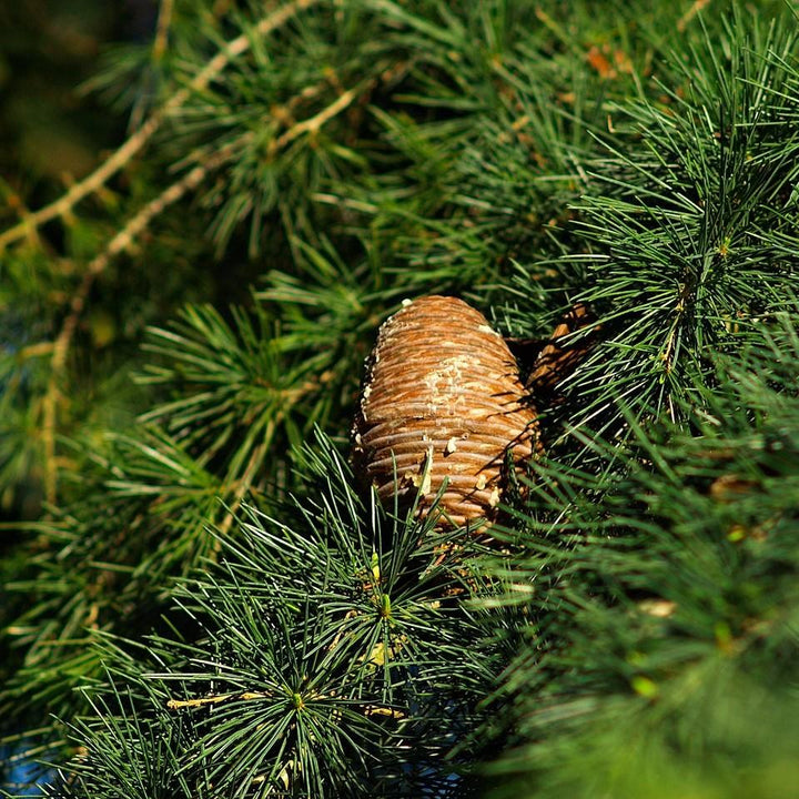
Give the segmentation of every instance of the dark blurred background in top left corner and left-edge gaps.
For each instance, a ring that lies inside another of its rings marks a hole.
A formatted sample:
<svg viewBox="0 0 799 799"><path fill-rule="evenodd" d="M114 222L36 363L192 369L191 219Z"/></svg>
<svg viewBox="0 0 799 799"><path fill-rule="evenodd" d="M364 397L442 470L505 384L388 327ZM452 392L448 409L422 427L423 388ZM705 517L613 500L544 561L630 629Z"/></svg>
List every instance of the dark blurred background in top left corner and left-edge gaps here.
<svg viewBox="0 0 799 799"><path fill-rule="evenodd" d="M90 172L101 154L121 140L125 119L110 114L87 91L85 81L97 72L109 42L149 40L156 13L155 0L0 0L3 204L13 206L14 198L24 198L28 206L43 205ZM6 271L2 260L0 255L0 283ZM0 314L2 346L12 347L24 332L17 330L10 297L0 302ZM7 433L0 424L0 435ZM41 483L31 474L14 496L0 502L0 519L36 518L40 505ZM16 538L12 527L2 530L0 557ZM30 765L22 761L0 782L23 783L30 772ZM30 788L16 790L38 793Z"/></svg>

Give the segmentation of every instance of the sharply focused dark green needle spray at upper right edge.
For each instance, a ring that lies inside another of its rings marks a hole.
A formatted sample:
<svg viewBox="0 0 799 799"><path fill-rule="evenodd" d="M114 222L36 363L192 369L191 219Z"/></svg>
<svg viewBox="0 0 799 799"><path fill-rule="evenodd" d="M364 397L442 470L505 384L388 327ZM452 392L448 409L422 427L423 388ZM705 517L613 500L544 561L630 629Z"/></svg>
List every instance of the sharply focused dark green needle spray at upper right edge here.
<svg viewBox="0 0 799 799"><path fill-rule="evenodd" d="M591 413L610 398L595 387L603 375L629 405L676 417L712 352L740 346L752 320L790 305L797 261L780 242L799 174L796 93L785 91L797 38L744 22L672 57L660 99L618 107L614 124L640 145L593 166L578 222L589 287L578 297L609 306L615 330L610 352L575 384L596 396Z"/></svg>

